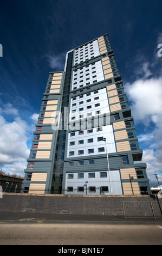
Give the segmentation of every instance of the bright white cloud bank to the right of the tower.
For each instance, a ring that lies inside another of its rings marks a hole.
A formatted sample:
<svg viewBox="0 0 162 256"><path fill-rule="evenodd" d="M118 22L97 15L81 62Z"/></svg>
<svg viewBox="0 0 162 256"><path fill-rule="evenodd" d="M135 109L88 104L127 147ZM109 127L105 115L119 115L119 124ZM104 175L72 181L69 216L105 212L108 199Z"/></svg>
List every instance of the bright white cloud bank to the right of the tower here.
<svg viewBox="0 0 162 256"><path fill-rule="evenodd" d="M159 38L161 40L162 34L159 34ZM139 65L135 69L134 82L125 82L135 127L140 125L144 129L138 136L139 143L144 145L142 162L147 163L147 175L154 185L157 185L157 180L153 174L162 174L162 76L160 70L154 72L153 66L153 63L160 61L157 51L154 51L153 62L150 64L143 56L137 58L135 63L139 62ZM162 183L162 175L159 175L159 182Z"/></svg>

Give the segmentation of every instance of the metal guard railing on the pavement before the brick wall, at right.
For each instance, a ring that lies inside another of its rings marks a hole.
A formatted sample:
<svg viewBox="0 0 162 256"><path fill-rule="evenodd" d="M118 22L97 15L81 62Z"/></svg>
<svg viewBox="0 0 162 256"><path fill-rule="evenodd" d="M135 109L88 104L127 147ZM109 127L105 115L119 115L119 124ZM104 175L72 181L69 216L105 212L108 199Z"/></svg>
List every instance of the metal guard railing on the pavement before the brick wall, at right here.
<svg viewBox="0 0 162 256"><path fill-rule="evenodd" d="M162 202L122 202L126 218L162 218Z"/></svg>

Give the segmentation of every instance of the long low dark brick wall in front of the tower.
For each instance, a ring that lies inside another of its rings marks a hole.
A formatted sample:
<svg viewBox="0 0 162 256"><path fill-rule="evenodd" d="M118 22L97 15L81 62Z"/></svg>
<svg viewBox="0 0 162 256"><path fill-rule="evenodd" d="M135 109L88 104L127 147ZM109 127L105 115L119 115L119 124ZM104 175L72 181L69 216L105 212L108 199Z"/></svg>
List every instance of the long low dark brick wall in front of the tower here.
<svg viewBox="0 0 162 256"><path fill-rule="evenodd" d="M155 211L161 214L162 199L158 199L157 196L153 195L72 196L44 194L38 196L34 194L5 193L3 194L3 198L0 199L0 210L123 216L123 202L134 202L134 205L138 205L138 208L143 208L145 215L147 214L146 205L150 205L150 202L152 202L152 204L155 203L156 205L155 209L157 210ZM149 209L151 209L150 206Z"/></svg>

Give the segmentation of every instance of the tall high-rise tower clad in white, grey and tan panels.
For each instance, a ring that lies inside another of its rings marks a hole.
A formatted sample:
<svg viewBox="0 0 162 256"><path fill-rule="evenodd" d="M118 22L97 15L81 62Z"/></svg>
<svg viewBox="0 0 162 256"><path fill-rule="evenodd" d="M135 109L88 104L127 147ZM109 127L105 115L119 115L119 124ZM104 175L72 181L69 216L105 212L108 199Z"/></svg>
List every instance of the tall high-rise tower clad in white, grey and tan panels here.
<svg viewBox="0 0 162 256"><path fill-rule="evenodd" d="M108 35L67 52L49 72L22 192L151 194L141 159Z"/></svg>

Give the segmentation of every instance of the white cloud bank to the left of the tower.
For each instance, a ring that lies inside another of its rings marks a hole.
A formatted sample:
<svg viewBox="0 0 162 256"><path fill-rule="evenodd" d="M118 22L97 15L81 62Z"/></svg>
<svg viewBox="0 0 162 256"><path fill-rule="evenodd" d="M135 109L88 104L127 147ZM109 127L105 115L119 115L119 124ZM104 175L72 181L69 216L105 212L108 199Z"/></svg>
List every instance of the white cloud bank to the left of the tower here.
<svg viewBox="0 0 162 256"><path fill-rule="evenodd" d="M0 167L11 174L24 176L24 169L27 167L27 158L30 149L27 143L33 134L34 124L30 125L20 117L15 117L14 121L7 121L2 114L7 114L7 106L14 109L13 114L18 114L17 109L10 103L4 106L0 115ZM10 111L9 111L10 112ZM11 113L11 112L10 112ZM31 120L37 120L38 114L31 115Z"/></svg>

